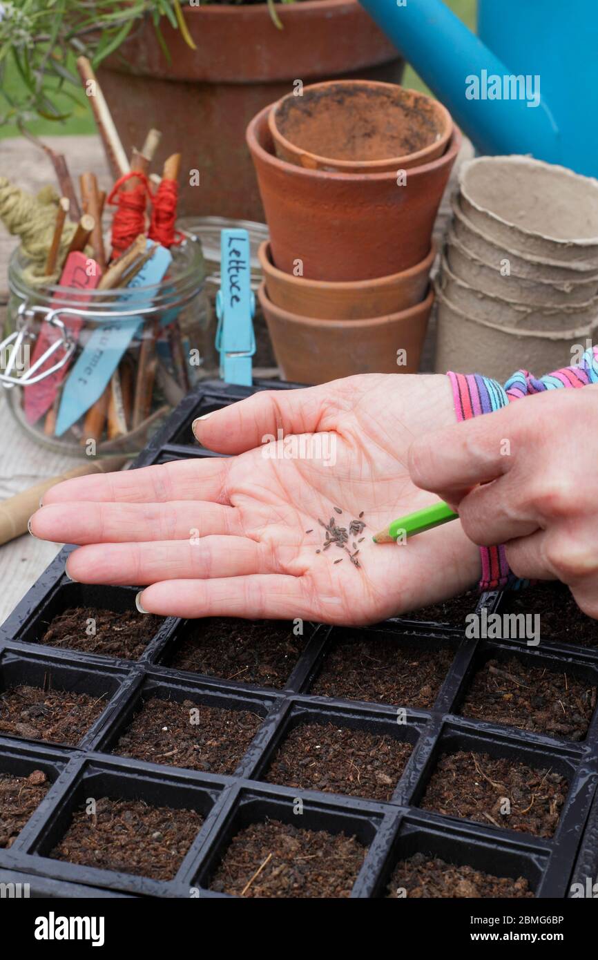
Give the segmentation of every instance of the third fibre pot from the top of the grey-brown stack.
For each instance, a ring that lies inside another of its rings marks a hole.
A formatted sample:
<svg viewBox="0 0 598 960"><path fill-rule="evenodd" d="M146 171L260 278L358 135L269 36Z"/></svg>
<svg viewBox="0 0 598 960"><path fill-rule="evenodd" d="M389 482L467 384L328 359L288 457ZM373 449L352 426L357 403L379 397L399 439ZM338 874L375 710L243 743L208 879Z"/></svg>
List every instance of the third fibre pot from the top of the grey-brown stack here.
<svg viewBox="0 0 598 960"><path fill-rule="evenodd" d="M503 275L500 267L486 263L469 252L452 230L446 240L446 259L453 274L483 293L494 294L514 303L540 303L545 306L586 303L598 293L598 277L573 280L530 280ZM583 277L584 274L577 276Z"/></svg>

